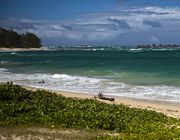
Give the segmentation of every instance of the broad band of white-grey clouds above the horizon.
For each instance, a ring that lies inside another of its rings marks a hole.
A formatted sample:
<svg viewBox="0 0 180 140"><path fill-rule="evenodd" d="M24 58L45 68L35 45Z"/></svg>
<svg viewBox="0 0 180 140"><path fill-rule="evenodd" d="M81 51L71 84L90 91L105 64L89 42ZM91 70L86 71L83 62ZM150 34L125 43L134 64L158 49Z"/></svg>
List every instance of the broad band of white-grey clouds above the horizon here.
<svg viewBox="0 0 180 140"><path fill-rule="evenodd" d="M180 8L151 6L87 13L63 21L6 18L0 19L0 26L33 32L51 45L180 43L179 15Z"/></svg>

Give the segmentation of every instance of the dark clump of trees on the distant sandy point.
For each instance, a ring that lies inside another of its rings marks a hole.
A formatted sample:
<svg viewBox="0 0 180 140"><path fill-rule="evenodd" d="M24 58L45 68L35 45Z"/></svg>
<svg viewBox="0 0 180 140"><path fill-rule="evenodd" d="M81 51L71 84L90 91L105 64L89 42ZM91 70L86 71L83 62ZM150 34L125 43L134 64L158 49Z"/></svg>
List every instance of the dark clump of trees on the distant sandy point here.
<svg viewBox="0 0 180 140"><path fill-rule="evenodd" d="M41 40L33 33L18 34L13 30L0 28L0 48L39 48Z"/></svg>

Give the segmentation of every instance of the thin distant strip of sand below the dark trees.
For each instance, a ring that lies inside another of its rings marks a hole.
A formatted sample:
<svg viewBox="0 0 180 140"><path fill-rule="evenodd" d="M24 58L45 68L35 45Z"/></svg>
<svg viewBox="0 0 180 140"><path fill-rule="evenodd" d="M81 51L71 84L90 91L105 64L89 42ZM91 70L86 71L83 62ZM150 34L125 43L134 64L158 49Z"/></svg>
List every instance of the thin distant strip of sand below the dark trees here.
<svg viewBox="0 0 180 140"><path fill-rule="evenodd" d="M41 48L0 48L0 52L11 52L11 51L42 51L46 50L44 47Z"/></svg>

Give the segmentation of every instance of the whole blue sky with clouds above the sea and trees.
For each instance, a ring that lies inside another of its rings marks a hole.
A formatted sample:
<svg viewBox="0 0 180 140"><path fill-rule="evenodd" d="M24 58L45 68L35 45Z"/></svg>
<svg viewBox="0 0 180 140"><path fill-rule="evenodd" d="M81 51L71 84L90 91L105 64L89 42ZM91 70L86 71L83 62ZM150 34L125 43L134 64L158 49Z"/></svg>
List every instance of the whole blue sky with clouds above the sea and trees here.
<svg viewBox="0 0 180 140"><path fill-rule="evenodd" d="M43 45L180 44L180 0L0 0L0 26Z"/></svg>

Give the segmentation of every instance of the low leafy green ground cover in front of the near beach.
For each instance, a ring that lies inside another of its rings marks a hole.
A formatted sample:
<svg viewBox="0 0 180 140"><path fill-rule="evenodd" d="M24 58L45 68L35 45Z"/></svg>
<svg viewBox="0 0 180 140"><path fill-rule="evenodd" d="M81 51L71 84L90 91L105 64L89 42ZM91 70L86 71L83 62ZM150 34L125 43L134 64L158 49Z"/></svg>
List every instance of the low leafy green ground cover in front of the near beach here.
<svg viewBox="0 0 180 140"><path fill-rule="evenodd" d="M97 139L180 139L180 120L162 113L33 92L12 84L0 85L0 126L100 129L119 134Z"/></svg>

